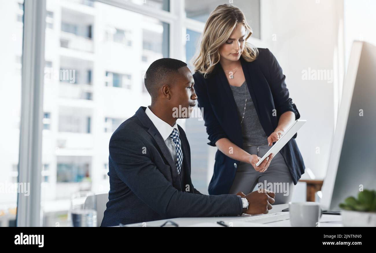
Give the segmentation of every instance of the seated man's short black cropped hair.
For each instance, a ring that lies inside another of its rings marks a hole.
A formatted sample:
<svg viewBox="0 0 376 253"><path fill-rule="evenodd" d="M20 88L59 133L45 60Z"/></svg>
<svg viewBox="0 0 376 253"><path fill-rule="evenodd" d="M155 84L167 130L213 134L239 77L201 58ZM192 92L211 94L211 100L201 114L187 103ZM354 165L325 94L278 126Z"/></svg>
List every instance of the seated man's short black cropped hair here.
<svg viewBox="0 0 376 253"><path fill-rule="evenodd" d="M177 70L185 66L187 66L185 62L173 58L158 59L150 64L146 70L144 82L152 99L157 97L158 90L163 83L166 83L166 79L167 83L173 80L179 74Z"/></svg>

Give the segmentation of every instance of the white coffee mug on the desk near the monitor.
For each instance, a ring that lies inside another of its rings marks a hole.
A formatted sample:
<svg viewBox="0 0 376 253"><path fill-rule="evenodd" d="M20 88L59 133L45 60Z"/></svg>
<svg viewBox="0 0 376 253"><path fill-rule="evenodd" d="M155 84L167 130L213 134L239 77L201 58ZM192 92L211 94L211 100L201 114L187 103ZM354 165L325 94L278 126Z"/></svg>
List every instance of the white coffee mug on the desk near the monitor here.
<svg viewBox="0 0 376 253"><path fill-rule="evenodd" d="M316 202L289 203L290 223L293 227L318 227L322 210Z"/></svg>

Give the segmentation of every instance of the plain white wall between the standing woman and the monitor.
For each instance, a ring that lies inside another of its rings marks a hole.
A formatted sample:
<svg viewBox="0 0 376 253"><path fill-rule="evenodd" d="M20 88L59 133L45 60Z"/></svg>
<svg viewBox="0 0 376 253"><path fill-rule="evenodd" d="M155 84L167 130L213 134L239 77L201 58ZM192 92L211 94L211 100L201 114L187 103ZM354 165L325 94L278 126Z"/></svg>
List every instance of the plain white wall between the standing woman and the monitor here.
<svg viewBox="0 0 376 253"><path fill-rule="evenodd" d="M342 50L342 19L343 1L340 0L261 1L261 40L276 56L286 75L287 88L300 119L307 120L296 141L306 168L312 170L316 179L326 175L341 87L338 73L341 75L343 63L338 51ZM302 70L308 68L334 70L337 75L333 83L303 80ZM302 178L309 179L308 173Z"/></svg>

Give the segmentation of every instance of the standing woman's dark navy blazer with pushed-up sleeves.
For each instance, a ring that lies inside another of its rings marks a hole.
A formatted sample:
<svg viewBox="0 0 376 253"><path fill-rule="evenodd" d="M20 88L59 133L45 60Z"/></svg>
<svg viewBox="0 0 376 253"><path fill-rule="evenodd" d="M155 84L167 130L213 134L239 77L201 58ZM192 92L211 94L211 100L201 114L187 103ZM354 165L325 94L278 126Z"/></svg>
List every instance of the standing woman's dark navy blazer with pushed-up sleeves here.
<svg viewBox="0 0 376 253"><path fill-rule="evenodd" d="M269 49L258 48L255 61L247 62L240 57L241 67L248 85L252 101L261 126L267 136L274 132L279 117L286 111L293 111L295 119L300 118L299 111L289 97L285 75ZM198 107L203 108L208 143L215 146L221 138L228 138L235 145L243 148L243 137L235 99L221 64L216 64L214 71L204 78L196 72L193 75L194 90L197 94ZM273 110L276 111L273 111ZM273 116L276 112L276 116ZM294 184L304 173L305 165L294 138L281 149L280 153L290 169ZM228 194L235 178L239 161L233 160L221 151L215 154L214 173L209 183L209 194Z"/></svg>

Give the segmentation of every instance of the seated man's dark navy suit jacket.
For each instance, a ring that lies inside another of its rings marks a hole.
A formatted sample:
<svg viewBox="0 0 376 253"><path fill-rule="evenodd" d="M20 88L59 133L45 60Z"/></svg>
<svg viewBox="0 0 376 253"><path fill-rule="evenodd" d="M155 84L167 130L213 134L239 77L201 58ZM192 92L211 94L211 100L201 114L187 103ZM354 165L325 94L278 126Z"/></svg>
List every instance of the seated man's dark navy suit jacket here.
<svg viewBox="0 0 376 253"><path fill-rule="evenodd" d="M176 217L240 215L240 196L203 195L194 189L190 146L184 130L177 125L183 152L180 174L184 179L180 181L167 145L145 110L146 107L140 107L111 136L109 201L101 226Z"/></svg>

